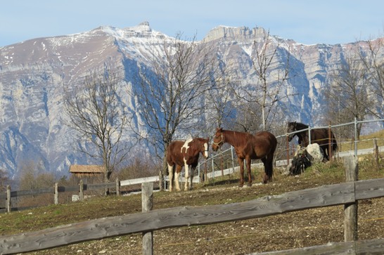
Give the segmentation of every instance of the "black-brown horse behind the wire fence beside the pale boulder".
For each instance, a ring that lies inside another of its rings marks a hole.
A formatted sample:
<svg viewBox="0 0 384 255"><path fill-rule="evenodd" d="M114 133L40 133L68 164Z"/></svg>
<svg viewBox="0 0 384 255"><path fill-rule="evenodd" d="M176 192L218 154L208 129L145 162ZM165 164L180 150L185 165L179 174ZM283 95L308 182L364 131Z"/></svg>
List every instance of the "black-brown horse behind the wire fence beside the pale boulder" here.
<svg viewBox="0 0 384 255"><path fill-rule="evenodd" d="M303 130L306 129L306 130ZM297 136L298 143L303 147L309 145L309 135L308 135L308 125L302 124L300 122L288 122L287 133L292 133L295 131L300 131L299 133L293 133L288 135L288 140L292 140L294 136ZM311 129L311 140L310 143L319 144L321 150L323 151L324 158L329 160L331 155L334 155L334 152L338 150L338 143L336 138L331 131L331 139L329 138L328 129ZM329 151L329 144L331 143L331 152Z"/></svg>

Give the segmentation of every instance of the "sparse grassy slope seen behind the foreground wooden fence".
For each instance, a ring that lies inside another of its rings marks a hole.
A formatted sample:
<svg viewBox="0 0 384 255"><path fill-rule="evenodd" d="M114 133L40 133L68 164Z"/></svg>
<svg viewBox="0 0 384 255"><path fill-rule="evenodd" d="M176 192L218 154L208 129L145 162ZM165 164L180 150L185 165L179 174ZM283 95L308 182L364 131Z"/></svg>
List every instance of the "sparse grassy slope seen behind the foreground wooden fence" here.
<svg viewBox="0 0 384 255"><path fill-rule="evenodd" d="M359 164L359 179L383 178L383 162ZM260 169L255 171L260 178ZM343 182L340 164L320 164L302 176L274 175L274 182L238 188L238 176L198 185L188 192L155 192L153 209L242 202L292 190ZM359 240L383 238L384 198L359 202ZM53 227L93 218L134 214L141 211L141 195L95 197L84 202L15 211L0 215L0 235ZM246 221L158 230L155 254L250 254L343 242L343 206L309 209ZM141 254L141 235L72 244L31 254Z"/></svg>

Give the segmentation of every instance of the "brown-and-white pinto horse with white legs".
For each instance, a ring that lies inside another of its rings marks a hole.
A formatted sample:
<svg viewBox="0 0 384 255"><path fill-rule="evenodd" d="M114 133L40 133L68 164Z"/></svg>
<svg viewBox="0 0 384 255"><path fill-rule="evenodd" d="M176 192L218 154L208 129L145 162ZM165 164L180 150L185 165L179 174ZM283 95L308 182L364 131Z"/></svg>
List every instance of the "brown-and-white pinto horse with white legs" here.
<svg viewBox="0 0 384 255"><path fill-rule="evenodd" d="M198 165L198 157L200 153L208 158L208 143L209 138L194 138L188 140L175 140L169 143L167 147L167 164L169 171L169 191L173 190L173 183L176 184L176 190L180 190L179 187L179 174L181 169L185 168L185 187L184 190L188 190L188 172L191 167L191 185L193 183L193 174Z"/></svg>

